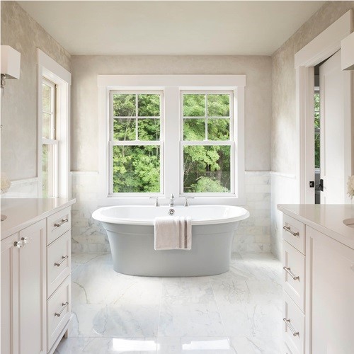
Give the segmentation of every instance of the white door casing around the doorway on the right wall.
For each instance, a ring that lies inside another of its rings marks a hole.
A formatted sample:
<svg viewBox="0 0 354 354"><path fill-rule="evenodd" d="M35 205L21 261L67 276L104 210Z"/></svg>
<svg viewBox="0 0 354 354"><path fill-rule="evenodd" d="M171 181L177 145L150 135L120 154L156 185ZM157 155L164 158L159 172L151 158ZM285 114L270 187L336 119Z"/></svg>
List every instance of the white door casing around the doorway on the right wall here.
<svg viewBox="0 0 354 354"><path fill-rule="evenodd" d="M313 120L314 115L312 110L314 100L312 94L314 92L312 70L316 64L340 50L341 40L346 38L352 30L353 10L350 9L295 54L296 132L299 137L296 147L299 152L296 159L296 174L300 203L314 203L314 198L312 198L312 194L314 194L312 189L314 188L309 188L307 183L314 178L314 161L312 159L314 144L313 138L311 139L310 136L314 127L310 127L309 122L309 120ZM350 72L348 72L348 76L350 76ZM347 112L347 114L350 113ZM309 155L307 155L307 152L310 152Z"/></svg>

